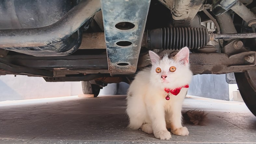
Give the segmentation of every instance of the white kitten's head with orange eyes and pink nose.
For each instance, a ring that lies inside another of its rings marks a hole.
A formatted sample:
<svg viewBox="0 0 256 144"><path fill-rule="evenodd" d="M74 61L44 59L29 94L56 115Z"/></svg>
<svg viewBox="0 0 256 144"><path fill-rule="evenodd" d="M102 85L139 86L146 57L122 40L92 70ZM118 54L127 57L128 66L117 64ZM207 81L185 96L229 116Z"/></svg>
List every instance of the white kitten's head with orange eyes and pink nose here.
<svg viewBox="0 0 256 144"><path fill-rule="evenodd" d="M165 55L160 58L150 51L152 69L150 82L159 88L177 88L187 85L191 80L192 72L189 69L189 49L182 48L174 57Z"/></svg>

